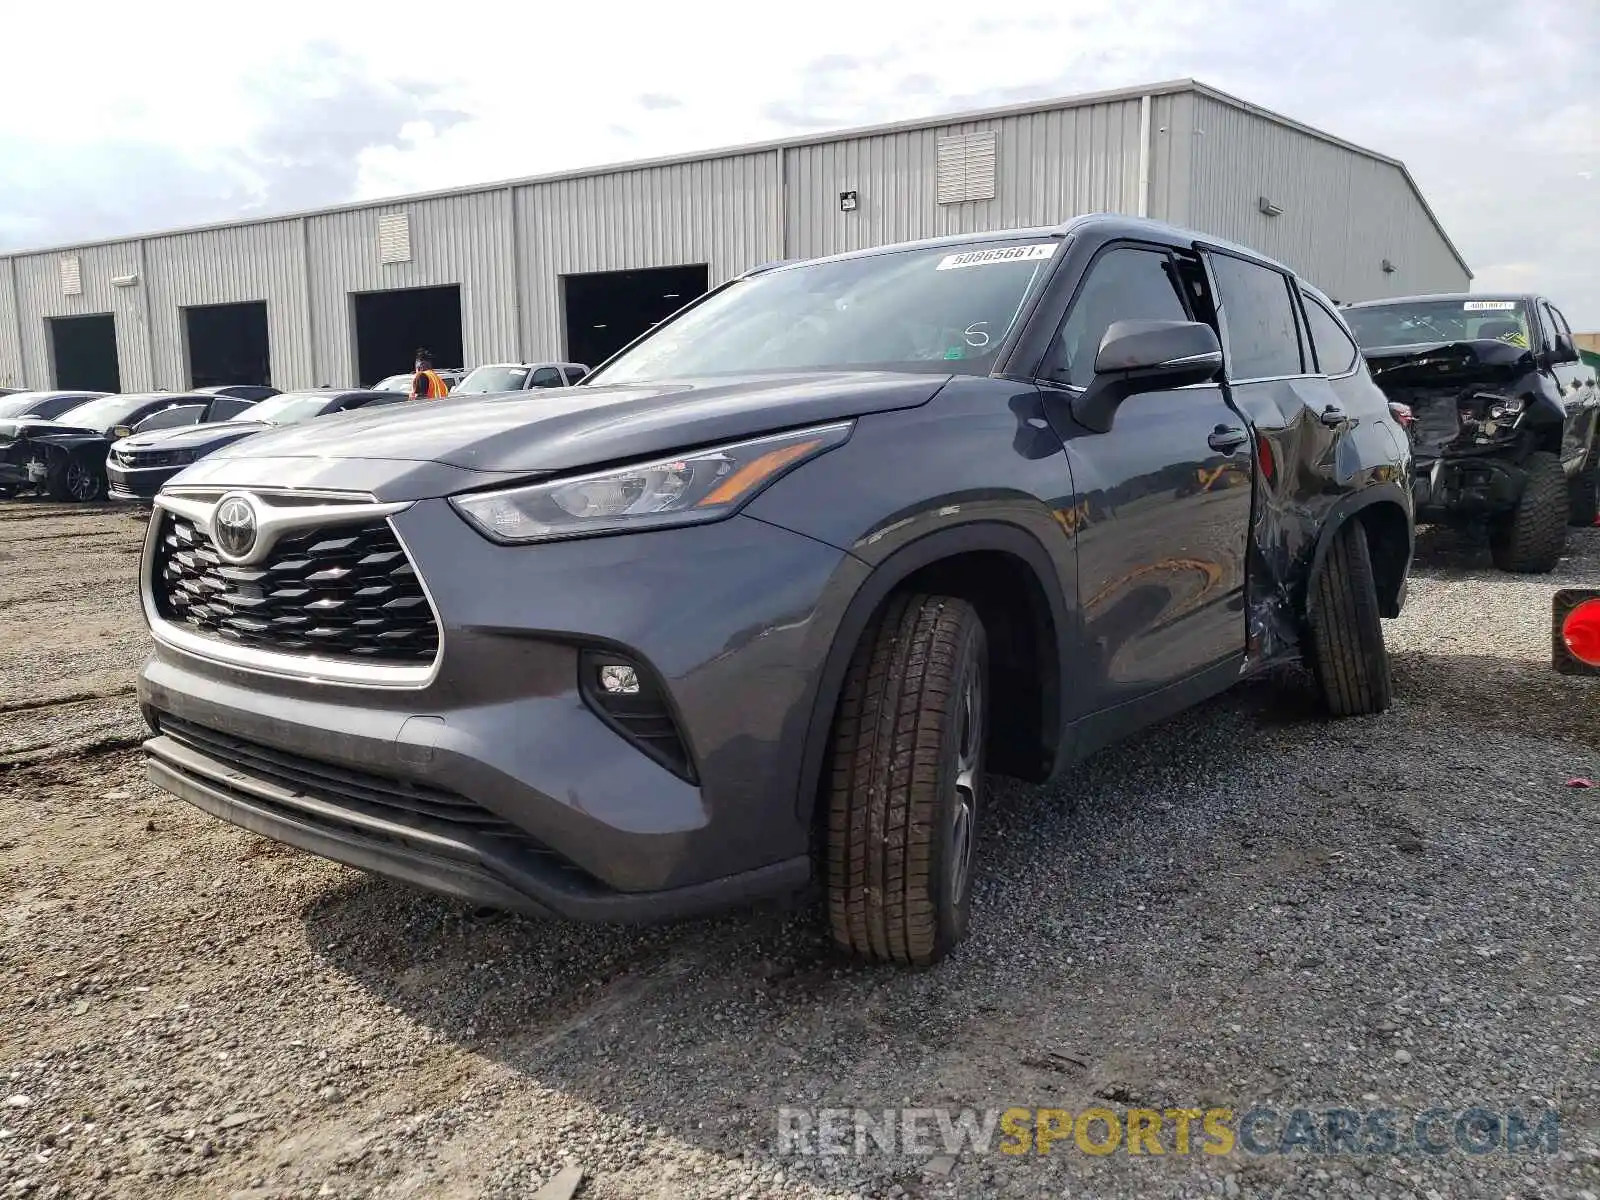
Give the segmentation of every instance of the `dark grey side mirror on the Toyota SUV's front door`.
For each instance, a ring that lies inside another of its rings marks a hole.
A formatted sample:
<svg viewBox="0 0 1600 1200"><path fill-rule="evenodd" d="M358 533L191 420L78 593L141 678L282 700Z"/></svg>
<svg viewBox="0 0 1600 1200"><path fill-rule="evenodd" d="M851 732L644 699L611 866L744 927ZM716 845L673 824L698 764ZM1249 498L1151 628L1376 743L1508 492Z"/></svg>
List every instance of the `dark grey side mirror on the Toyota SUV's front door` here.
<svg viewBox="0 0 1600 1200"><path fill-rule="evenodd" d="M1187 387L1216 378L1222 347L1200 322L1112 322L1094 355L1094 381L1074 397L1078 424L1104 434L1130 395Z"/></svg>

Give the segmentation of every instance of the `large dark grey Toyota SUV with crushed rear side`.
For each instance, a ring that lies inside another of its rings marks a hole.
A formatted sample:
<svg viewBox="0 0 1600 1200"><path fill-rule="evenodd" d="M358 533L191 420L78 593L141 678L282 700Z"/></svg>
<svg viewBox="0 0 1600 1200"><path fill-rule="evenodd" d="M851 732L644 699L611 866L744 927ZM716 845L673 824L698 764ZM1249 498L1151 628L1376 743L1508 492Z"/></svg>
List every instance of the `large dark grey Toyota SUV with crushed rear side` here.
<svg viewBox="0 0 1600 1200"><path fill-rule="evenodd" d="M419 408L157 498L162 787L563 917L821 880L842 947L926 963L989 770L1051 778L1286 661L1334 715L1389 704L1402 430L1325 296L1198 234L781 264L582 387Z"/></svg>

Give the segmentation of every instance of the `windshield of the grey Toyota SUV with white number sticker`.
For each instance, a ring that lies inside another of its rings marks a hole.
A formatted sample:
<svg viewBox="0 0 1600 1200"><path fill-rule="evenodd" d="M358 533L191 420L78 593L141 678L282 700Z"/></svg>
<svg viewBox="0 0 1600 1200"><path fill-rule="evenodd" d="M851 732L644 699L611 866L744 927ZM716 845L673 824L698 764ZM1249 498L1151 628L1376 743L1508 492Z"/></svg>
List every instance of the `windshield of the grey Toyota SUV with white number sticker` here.
<svg viewBox="0 0 1600 1200"><path fill-rule="evenodd" d="M1059 246L989 240L781 267L709 296L586 382L746 371L987 374Z"/></svg>

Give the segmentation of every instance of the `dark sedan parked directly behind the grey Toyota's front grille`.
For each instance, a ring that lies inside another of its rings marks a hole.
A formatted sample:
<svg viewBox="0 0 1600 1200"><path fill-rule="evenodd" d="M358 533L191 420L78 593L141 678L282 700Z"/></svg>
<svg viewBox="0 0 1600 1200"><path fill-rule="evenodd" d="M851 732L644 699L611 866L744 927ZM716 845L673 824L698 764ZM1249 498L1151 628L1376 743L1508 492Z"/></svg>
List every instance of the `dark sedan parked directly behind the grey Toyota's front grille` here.
<svg viewBox="0 0 1600 1200"><path fill-rule="evenodd" d="M280 392L248 403L232 397L210 398L203 418L181 429L139 430L110 448L106 474L110 498L149 504L162 485L190 462L222 446L274 426L293 426L330 413L406 400L398 392L312 390ZM230 419L232 416L243 419Z"/></svg>

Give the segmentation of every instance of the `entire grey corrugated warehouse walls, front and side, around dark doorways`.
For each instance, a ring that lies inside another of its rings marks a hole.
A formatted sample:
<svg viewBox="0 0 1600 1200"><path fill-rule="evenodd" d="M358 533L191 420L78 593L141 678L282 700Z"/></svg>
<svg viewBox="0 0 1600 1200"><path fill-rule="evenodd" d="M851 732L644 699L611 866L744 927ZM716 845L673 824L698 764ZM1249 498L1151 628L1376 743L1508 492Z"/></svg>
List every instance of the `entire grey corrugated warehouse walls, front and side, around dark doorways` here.
<svg viewBox="0 0 1600 1200"><path fill-rule="evenodd" d="M62 294L61 253L19 254L0 259L0 379L46 386L45 318L110 312L123 387L186 387L182 309L266 301L278 387L371 382L357 379L352 293L437 285L461 288L466 365L562 357L566 274L702 262L717 285L776 258L1138 213L1142 118L1125 94L85 246L66 251L80 258L82 296ZM995 133L994 198L938 203L939 138L984 130ZM1150 216L1258 246L1338 299L1467 285L1398 168L1213 96L1150 96L1146 166ZM845 190L856 211L840 211ZM1283 214L1262 216L1261 195ZM382 262L386 213L410 218L410 262ZM139 285L112 286L134 272Z"/></svg>

